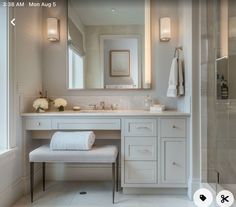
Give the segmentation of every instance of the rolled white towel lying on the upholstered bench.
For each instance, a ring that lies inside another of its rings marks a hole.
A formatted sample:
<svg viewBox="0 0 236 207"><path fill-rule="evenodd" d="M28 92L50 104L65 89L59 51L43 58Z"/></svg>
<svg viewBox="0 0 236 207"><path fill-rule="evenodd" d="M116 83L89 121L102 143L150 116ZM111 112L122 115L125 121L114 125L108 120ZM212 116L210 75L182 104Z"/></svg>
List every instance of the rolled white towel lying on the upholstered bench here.
<svg viewBox="0 0 236 207"><path fill-rule="evenodd" d="M51 150L90 150L95 142L92 131L55 132L52 136Z"/></svg>

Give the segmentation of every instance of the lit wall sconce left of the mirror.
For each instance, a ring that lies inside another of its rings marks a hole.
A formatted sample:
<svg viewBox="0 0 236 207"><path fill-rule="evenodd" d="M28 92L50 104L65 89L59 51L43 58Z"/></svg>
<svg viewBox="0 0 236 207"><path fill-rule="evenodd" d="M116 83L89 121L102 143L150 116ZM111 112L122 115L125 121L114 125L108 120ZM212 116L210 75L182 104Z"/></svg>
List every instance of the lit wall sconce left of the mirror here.
<svg viewBox="0 0 236 207"><path fill-rule="evenodd" d="M49 41L59 41L59 20L57 18L47 18L47 34Z"/></svg>

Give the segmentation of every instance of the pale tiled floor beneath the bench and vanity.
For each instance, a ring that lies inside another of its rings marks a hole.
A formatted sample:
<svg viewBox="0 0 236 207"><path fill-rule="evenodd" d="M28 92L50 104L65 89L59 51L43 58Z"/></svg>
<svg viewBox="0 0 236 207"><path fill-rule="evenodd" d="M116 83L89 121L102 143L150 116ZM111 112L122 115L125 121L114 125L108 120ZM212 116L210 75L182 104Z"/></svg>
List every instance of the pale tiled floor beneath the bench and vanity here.
<svg viewBox="0 0 236 207"><path fill-rule="evenodd" d="M81 195L86 191L86 195ZM13 207L194 207L187 196L123 195L116 194L112 204L110 182L56 182L47 183L46 191L41 186L35 190L31 205L29 196L21 198Z"/></svg>

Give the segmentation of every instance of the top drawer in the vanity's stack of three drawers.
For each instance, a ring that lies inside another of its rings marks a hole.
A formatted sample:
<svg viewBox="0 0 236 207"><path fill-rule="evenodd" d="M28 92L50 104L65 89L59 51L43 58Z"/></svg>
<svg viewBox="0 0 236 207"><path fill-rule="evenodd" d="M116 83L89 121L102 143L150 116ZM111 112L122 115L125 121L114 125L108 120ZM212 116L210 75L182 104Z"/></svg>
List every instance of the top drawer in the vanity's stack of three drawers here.
<svg viewBox="0 0 236 207"><path fill-rule="evenodd" d="M126 136L156 136L157 126L155 119L126 119Z"/></svg>

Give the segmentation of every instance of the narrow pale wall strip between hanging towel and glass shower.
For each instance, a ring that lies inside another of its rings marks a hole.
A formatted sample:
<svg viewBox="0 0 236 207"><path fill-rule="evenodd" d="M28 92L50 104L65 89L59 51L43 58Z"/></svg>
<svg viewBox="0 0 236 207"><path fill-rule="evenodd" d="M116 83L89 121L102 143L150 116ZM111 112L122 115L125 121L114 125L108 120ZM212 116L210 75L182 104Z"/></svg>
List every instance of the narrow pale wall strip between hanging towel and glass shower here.
<svg viewBox="0 0 236 207"><path fill-rule="evenodd" d="M185 96L178 108L191 113L189 124L189 197L200 187L200 1L180 0L180 45L183 46Z"/></svg>

